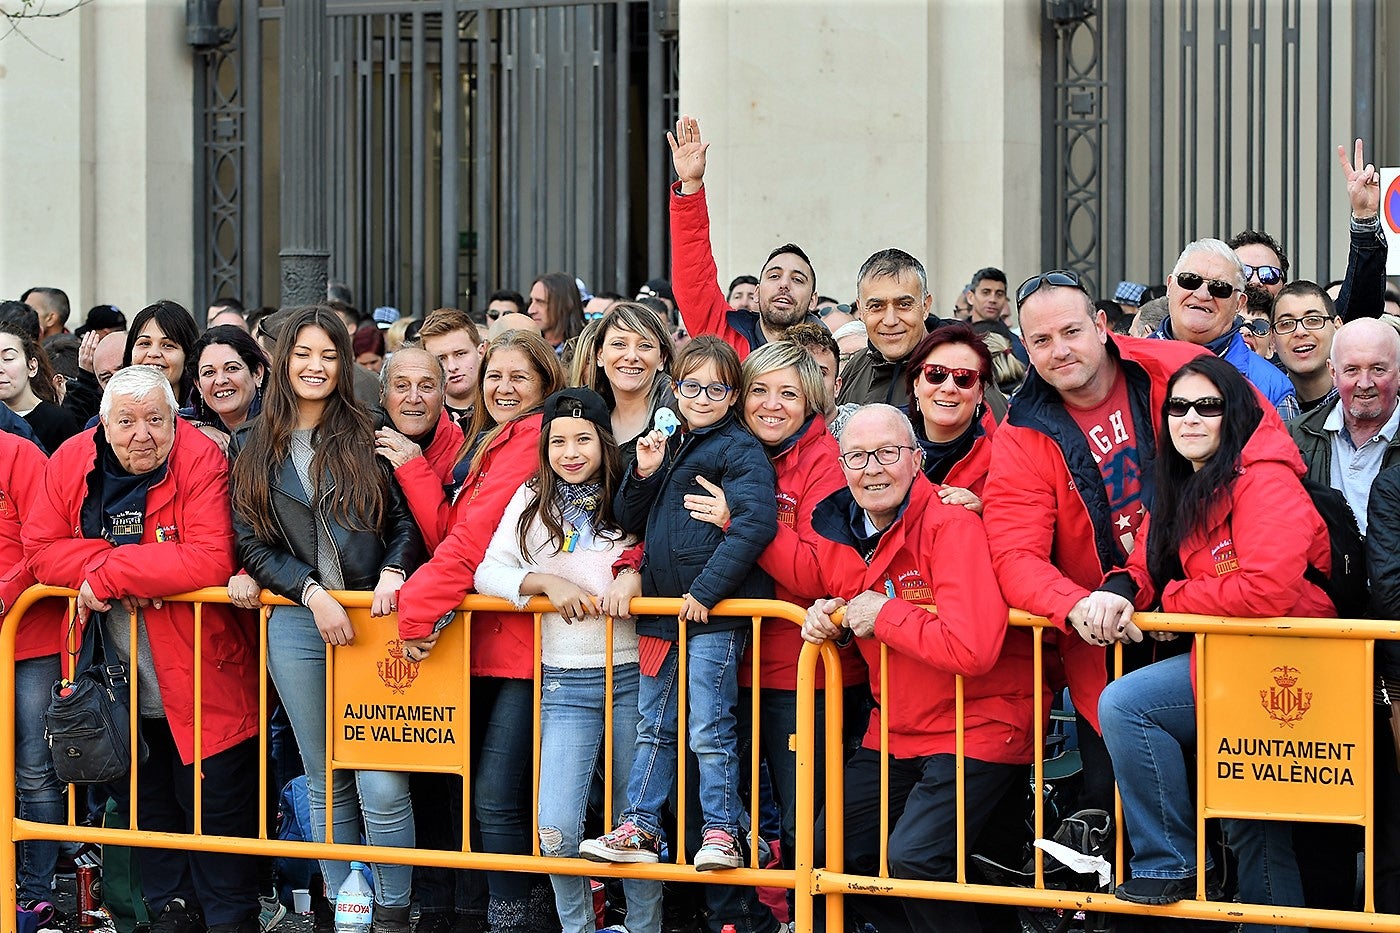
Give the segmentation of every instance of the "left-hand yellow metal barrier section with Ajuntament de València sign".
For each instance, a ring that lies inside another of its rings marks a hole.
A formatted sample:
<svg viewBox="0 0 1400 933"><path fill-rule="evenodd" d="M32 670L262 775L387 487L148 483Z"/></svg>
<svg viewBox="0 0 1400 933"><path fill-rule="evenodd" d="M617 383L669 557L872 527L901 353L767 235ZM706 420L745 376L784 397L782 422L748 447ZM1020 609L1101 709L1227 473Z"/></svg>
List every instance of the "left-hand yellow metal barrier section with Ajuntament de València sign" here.
<svg viewBox="0 0 1400 933"><path fill-rule="evenodd" d="M4 630L0 633L0 665L4 670L14 670L14 633L18 629L20 619L24 612L34 605L41 598L67 598L69 600L69 618L71 621L74 612L74 593L71 590L64 590L59 587L32 587L25 591L13 607L8 608L4 619ZM462 825L462 839L463 848L459 852L449 850L434 850L434 849L400 849L400 848L386 848L386 846L363 846L363 845L343 845L343 843L312 843L312 842L287 842L280 839L270 839L267 836L267 716L269 716L269 678L262 677L259 684L259 721L262 728L259 730L259 821L258 821L258 836L256 838L232 838L232 836L214 836L202 834L202 775L200 769L195 768L195 832L193 834L174 834L174 832L153 832L140 828L140 813L137 807L136 794L136 780L139 765L133 762L132 773L129 776L130 782L130 800L132 810L130 814L130 828L129 829L105 829L95 827L80 827L76 821L76 806L74 794L70 794L69 800L69 822L66 825L41 824L18 820L15 815L15 800L13 794L0 794L0 825L7 827L10 832L11 842L21 842L28 839L62 839L73 842L91 842L98 845L123 845L123 846L148 846L148 848L165 848L165 849L192 849L192 850L218 850L238 855L262 855L262 856L281 856L281 857L301 857L301 859L336 859L336 860L361 860L361 862L382 862L382 863L396 863L396 864L416 864L416 866L435 866L435 867L451 867L451 869L482 869L482 870L500 870L500 871L528 871L536 874L571 874L571 876L588 876L588 877L641 877L658 881L692 881L692 883L706 883L706 884L736 884L736 885L762 885L762 887L776 887L787 888L794 891L795 901L795 919L798 920L799 929L811 929L812 918L812 902L811 902L811 884L806 881L806 874L799 866L797 870L780 870L780 869L760 869L757 864L756 850L750 856L750 864L743 869L725 870L720 873L697 873L693 867L686 864L685 853L685 827L686 827L686 796L685 796L685 780L686 780L686 756L679 755L678 762L678 813L676 813L676 839L673 841L673 855L675 862L659 863L659 864L608 864L595 863L584 859L564 859L564 857L545 857L539 855L539 769L540 769L540 751L539 751L539 713L540 713L540 686L542 686L542 665L540 665L540 618L542 614L549 612L553 607L545 598L533 598L525 607L524 612L533 615L533 632L535 632L535 664L533 664L533 762L532 762L532 827L533 832L533 853L532 855L496 855L496 853L482 853L472 852L470 849L470 834L468 831L468 822L470 820L470 789L472 789L472 762L470 762L470 742L466 741L466 728L470 723L470 650L472 650L472 636L470 636L470 622L475 612L521 612L512 604L505 600L496 600L490 597L469 595L463 600L458 609L458 618L452 625L442 630L442 636L433 656L421 663L412 663L414 668L420 665L431 665L437 668L435 675L444 675L444 672L455 672L454 689L456 689L458 709L461 709L461 716L452 713L454 719L458 719L463 724L463 734L461 741L452 742L458 747L458 754L454 755L427 755L430 761L424 761L421 748L414 748L416 742L405 742L407 747L405 754L388 755L385 756L384 744L381 742L378 748L368 748L365 742L357 742L356 735L350 734L347 738L344 716L344 702L346 696L364 698L365 695L365 675L367 671L374 672L381 661L386 661L388 667L378 667L379 679L386 685L389 691L399 689L403 692L409 689L409 684L419 674L414 670L409 677L409 672L403 670L402 665L396 665L398 661L403 661L402 650L395 651L395 644L398 643L398 626L396 616L388 616L385 619L371 619L368 616L368 607L371 602L370 593L349 593L339 591L332 594L342 605L347 608L351 619L356 623L357 637L350 646L328 649L326 660L326 700L328 700L328 714L326 714L326 787L332 786L332 775L335 770L342 769L377 769L377 770L434 770L444 773L461 775L463 787L463 825ZM200 759L202 752L202 719L203 719L203 696L200 692L200 656L202 656L202 604L210 602L228 602L228 593L224 588L207 588L196 593L186 593L168 597L167 601L183 601L195 604L195 758ZM262 671L267 671L267 616L269 608L276 605L293 605L290 601L276 597L270 593L262 594L263 608L259 612L259 665ZM679 609L680 600L659 600L659 598L637 598L631 602L631 611L636 615L673 615ZM757 681L757 672L760 670L762 658L760 653L760 639L759 630L764 619L784 619L790 623L801 625L805 612L791 604L778 602L771 600L727 600L717 605L711 611L711 616L748 616L752 623L750 629L750 650L753 653L753 672L755 681ZM132 626L132 644L130 657L136 657L136 629ZM685 635L685 623L682 623L682 644ZM608 674L606 684L610 692L612 685L612 619L608 621L606 633L606 654L608 654ZM388 654L385 650L388 649ZM402 644L399 646L402 649ZM832 737L832 748L839 749L841 747L841 685L840 685L840 661L834 649L826 651L827 656L827 682L834 684L834 689L829 689L826 693L827 699L827 735ZM815 656L813 656L815 657ZM679 675L679 700L678 700L678 714L680 717L678 723L678 734L686 734L686 679L685 679L685 651L680 653L680 675ZM409 684L403 681L407 679ZM13 681L11 681L13 682ZM757 682L755 685L757 689ZM137 678L133 675L130 678L130 709L137 709L136 691ZM353 691L353 692L351 692ZM8 768L10 773L14 772L14 692L13 686L10 691L0 696L0 766ZM813 717L813 705L811 696L802 698L798 703L799 714L805 713L811 720ZM612 717L605 719L605 744L610 752L612 742L616 741L613 733ZM753 728L753 741L750 742L750 820L753 825L757 825L757 810L759 810L759 755L762 754L762 745L757 741L757 730L760 728L760 714L759 703L752 703L752 717L750 726ZM136 730L139 727L139 719L132 717L132 747L136 748ZM811 731L811 723L808 727ZM454 735L454 738L456 738ZM626 741L631 741L631 737L626 737ZM682 740L683 741L683 740ZM372 744L372 742L371 742ZM358 748L357 748L358 745ZM809 748L811 745L805 745ZM801 747L799 747L801 748ZM441 751L441 749L438 749ZM829 755L827 759L827 780L833 776L840 780L841 773L841 756L839 754ZM605 821L610 828L610 814L612 814L612 756L605 754L605 787L608 800L605 803ZM812 775L812 761L809 755L798 754L798 801L799 801L799 818L798 818L798 835L805 832L805 827L811 827L816 821L816 814L812 813L813 801L813 775ZM805 782L805 783L804 783ZM279 789L280 790L280 789ZM332 838L329 832L333 822L332 803L333 796L326 794L326 838ZM756 849L756 848L755 848ZM811 860L806 863L805 871L809 873ZM0 932L13 933L14 930L14 908L15 908L15 849L13 845L0 846ZM799 881L801 878L801 881ZM332 892L333 895L333 892Z"/></svg>

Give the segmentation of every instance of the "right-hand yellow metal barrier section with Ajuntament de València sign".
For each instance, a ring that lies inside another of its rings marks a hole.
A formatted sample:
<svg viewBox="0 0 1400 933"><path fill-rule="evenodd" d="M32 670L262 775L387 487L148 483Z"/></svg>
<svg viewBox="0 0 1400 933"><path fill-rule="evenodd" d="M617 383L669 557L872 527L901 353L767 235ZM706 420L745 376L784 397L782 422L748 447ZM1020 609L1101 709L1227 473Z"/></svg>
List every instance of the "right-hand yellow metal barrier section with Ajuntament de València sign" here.
<svg viewBox="0 0 1400 933"><path fill-rule="evenodd" d="M1319 640L1327 643L1337 642L1351 642L1359 651L1351 653L1351 661L1354 664L1361 664L1359 671L1352 671L1350 678L1345 681L1343 689L1350 691L1347 703L1341 703L1338 709L1343 710L1343 716L1355 716L1355 699L1357 696L1364 698L1361 714L1364 738L1355 744L1359 747L1359 756L1357 758L1357 770L1352 775L1354 779L1361 783L1368 792L1372 776L1372 735L1371 735L1371 710L1369 710L1369 696L1371 696L1371 656L1373 642L1376 639L1396 639L1400 637L1400 622L1392 621L1361 621L1361 619L1221 619L1214 616L1194 616L1182 614L1138 614L1135 616L1138 628L1144 632L1175 632L1183 636L1193 636L1197 639L1197 675L1200 684L1205 685L1210 681L1208 667L1211 664L1211 640L1212 636L1217 642L1225 642L1226 639L1250 637L1256 639L1250 644L1254 653L1259 653L1261 646L1257 639L1309 639L1309 646L1317 644ZM1033 633L1033 670L1036 682L1043 682L1043 630L1050 628L1051 623L1040 616L1032 616L1028 612L1012 609L1011 623L1014 626L1022 626L1032 629ZM1078 637L1078 636L1075 636ZM1221 649L1217 649L1221 650ZM883 654L882 647L882 668L883 668ZM1114 651L1116 672L1121 675L1123 672L1123 657L1121 647ZM1344 653L1345 654L1345 653ZM1359 661L1357 658L1361 658ZM799 665L799 686L798 692L802 696L809 696L815 679L815 661L816 651L804 650L801 665ZM1273 664L1267 657L1261 663ZM1285 661L1282 667L1288 667ZM1309 665L1315 665L1312 660ZM1228 663L1225 667L1233 668L1233 664ZM830 671L830 668L827 668ZM1266 668L1268 670L1268 668ZM1331 670L1331 668L1329 668ZM882 671L883 672L883 671ZM1284 672L1284 677L1295 677L1294 672ZM1313 684L1327 684L1327 675L1323 678L1316 678ZM1334 679L1334 678L1333 678ZM885 695L888 693L888 679L881 678L882 696L881 702L885 702ZM1312 908L1285 908L1285 906L1270 906L1270 905L1252 905L1252 904L1233 904L1233 902L1214 902L1205 899L1204 892L1204 871L1197 873L1198 890L1197 899L1194 901L1180 901L1177 904L1166 906L1142 906L1137 904L1130 904L1126 901L1119 901L1113 897L1112 891L1085 894L1078 891L1060 891L1044 888L1044 853L1039 849L1035 850L1035 887L1033 888L1019 888L1019 887L1004 887L1004 885L990 885L990 884L966 884L966 827L963 820L963 789L962 789L962 773L963 773L963 742L962 742L962 684L963 678L956 679L956 702L958 702L958 716L959 716L959 730L958 730L958 752L956 752L956 770L959 776L958 786L958 880L956 881L917 881L909 878L892 878L889 877L888 862L886 862L886 846L885 842L889 836L889 828L886 825L888 814L888 770L882 768L881 775L881 870L876 877L850 874L841 870L843 866L843 831L837 817L843 811L843 796L844 785L839 775L829 775L827 779L827 852L826 852L826 867L816 867L813 864L812 843L813 838L811 835L799 841L798 850L798 864L808 866L811 869L811 883L812 894L815 897L825 898L826 902L826 929L829 933L840 933L844 926L844 895L860 894L860 895L876 895L876 897L899 897L899 898L928 898L928 899L946 899L946 901L966 901L966 902L980 902L980 904L1002 904L1018 908L1040 908L1040 909L1060 909L1060 911L1086 911L1086 912L1100 912L1100 913L1134 913L1134 915L1151 915L1151 916L1173 916L1184 919L1198 919L1198 920L1221 920L1228 923L1277 923L1284 926L1309 926L1316 929L1336 929L1336 930L1390 930L1400 932L1400 915L1393 913L1375 913L1373 912L1373 807L1371 804L1371 794L1365 793L1365 806L1357 807L1355 797L1348 799L1348 803L1338 808L1317 808L1303 811L1273 811L1270 813L1267 807L1245 806L1236 800L1228 801L1225 806L1211 806L1208 800L1204 800L1197 808L1197 864L1204 866L1204 821L1207 818L1215 817L1246 817L1246 818L1288 818L1301 821L1322 821L1322 822L1352 822L1365 827L1365 852L1366 852L1366 867L1365 867L1365 909L1364 911L1327 911L1327 909L1312 909ZM1267 686L1267 684L1264 685ZM1296 682L1288 686L1294 689ZM1197 700L1197 741L1198 749L1200 742L1208 735L1205 728L1207 717L1207 702L1204 688L1198 688ZM1316 702L1316 700L1313 700ZM1044 716L1042 691L1035 691L1035 747L1037 749L1044 749ZM802 730L799 734L801 747L806 747L806 742L813 737L813 719L811 716L801 716L798 719ZM888 730L882 728L881 735L881 751L882 758L888 763L888 749L889 737ZM1198 768L1204 768L1207 754L1198 754ZM1204 770L1198 772L1203 778L1203 792ZM1184 789L1183 789L1184 790ZM1044 762L1043 755L1036 755L1033 761L1033 799L1035 799L1035 834L1036 838L1044 836ZM1121 827L1121 800L1116 800L1114 807L1114 825ZM1359 810L1359 811L1358 811ZM801 825L806 825L802 822ZM1126 870L1123 857L1123 832L1121 829L1117 835L1117 855L1114 859L1114 883L1121 883ZM799 871L799 881L806 877L806 871Z"/></svg>

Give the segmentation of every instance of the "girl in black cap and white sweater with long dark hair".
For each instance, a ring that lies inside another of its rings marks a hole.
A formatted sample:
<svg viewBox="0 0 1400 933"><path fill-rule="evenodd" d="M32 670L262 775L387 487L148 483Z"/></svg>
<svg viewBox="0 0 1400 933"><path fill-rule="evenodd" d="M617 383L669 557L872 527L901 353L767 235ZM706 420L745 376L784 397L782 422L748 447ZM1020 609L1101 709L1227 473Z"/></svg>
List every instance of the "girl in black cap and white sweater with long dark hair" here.
<svg viewBox="0 0 1400 933"><path fill-rule="evenodd" d="M612 804L627 806L637 737L637 630L619 621L612 646L601 594L613 586L613 562L634 538L613 517L622 457L602 396L567 388L545 401L539 476L524 485L501 517L476 588L524 607L546 595L556 612L542 619L543 679L539 709L539 850L577 857L594 772L605 754L612 709ZM609 699L606 671L612 667ZM550 876L564 933L592 933L592 892L581 876ZM659 926L659 881L627 880L627 926Z"/></svg>

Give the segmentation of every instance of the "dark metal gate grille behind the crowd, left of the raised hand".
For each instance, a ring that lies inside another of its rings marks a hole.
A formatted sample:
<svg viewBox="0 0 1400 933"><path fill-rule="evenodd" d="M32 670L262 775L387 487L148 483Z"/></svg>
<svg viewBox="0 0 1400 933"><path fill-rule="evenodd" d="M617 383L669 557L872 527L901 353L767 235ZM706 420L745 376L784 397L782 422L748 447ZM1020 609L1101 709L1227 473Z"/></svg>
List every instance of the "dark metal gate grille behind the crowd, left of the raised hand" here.
<svg viewBox="0 0 1400 933"><path fill-rule="evenodd" d="M197 244L197 301L249 304L277 294L277 165L291 154L279 151L269 74L281 6L242 0L237 13L232 43L206 53L200 77L209 85L237 53L223 95L258 99L220 139L218 101L197 98L204 165L228 148L246 165L196 219L224 231ZM664 270L676 43L651 14L638 0L329 0L325 146L295 157L323 163L330 279L365 308L421 315L479 308L545 272L626 290ZM214 181L207 171L202 189Z"/></svg>

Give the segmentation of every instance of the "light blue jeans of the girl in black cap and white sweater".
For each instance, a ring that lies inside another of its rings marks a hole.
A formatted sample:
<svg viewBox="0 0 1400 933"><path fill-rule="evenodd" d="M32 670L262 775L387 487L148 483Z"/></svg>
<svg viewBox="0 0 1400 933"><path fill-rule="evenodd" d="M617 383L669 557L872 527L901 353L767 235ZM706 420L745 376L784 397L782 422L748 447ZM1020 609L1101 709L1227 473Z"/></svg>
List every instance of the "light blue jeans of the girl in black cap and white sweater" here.
<svg viewBox="0 0 1400 933"><path fill-rule="evenodd" d="M613 691L605 692L603 668L546 667L540 692L539 850L545 856L578 857L594 773L602 769L603 728L612 705L612 804L616 818L627 807L627 776L637 737L637 665L613 668ZM564 933L592 933L588 878L552 874L554 906ZM661 927L661 883L623 880L627 929Z"/></svg>

